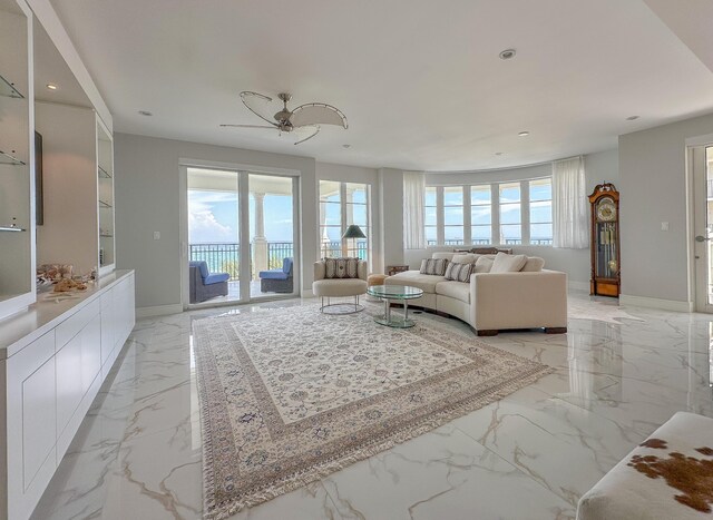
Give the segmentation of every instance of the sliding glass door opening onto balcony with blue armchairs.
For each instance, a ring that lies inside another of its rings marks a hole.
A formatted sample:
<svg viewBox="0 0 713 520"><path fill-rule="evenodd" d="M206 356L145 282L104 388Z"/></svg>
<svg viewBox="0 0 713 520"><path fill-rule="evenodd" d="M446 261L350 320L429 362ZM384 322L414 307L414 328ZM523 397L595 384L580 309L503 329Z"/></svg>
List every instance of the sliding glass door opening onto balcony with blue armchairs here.
<svg viewBox="0 0 713 520"><path fill-rule="evenodd" d="M187 306L299 294L297 178L198 167L186 177Z"/></svg>

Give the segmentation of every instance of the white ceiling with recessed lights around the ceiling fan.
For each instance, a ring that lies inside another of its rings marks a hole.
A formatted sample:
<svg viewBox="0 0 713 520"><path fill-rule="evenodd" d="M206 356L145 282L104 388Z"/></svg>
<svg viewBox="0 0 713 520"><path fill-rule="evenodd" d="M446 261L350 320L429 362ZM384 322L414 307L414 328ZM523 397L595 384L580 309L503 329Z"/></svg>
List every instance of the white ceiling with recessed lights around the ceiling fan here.
<svg viewBox="0 0 713 520"><path fill-rule="evenodd" d="M621 134L713 111L712 71L644 0L52 3L124 133L469 170L611 149ZM517 57L500 60L506 48ZM219 128L261 124L241 90L334 105L350 127L297 146Z"/></svg>

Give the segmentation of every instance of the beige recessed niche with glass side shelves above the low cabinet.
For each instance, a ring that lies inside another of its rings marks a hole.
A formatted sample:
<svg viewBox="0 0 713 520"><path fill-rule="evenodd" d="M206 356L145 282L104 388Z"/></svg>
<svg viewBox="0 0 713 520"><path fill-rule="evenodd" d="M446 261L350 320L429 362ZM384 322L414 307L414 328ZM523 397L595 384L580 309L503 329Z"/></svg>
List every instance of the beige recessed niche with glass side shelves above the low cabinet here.
<svg viewBox="0 0 713 520"><path fill-rule="evenodd" d="M77 274L115 267L111 135L91 108L36 104L42 136L45 224L38 264L71 264Z"/></svg>

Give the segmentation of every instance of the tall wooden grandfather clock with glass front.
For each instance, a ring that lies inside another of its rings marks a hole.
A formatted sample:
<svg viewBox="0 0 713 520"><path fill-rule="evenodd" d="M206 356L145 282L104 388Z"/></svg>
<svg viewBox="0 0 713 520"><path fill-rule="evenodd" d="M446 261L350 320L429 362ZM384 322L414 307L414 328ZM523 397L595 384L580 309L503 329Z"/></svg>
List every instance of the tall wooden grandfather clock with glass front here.
<svg viewBox="0 0 713 520"><path fill-rule="evenodd" d="M619 193L604 183L589 195L592 204L592 282L589 294L618 297Z"/></svg>

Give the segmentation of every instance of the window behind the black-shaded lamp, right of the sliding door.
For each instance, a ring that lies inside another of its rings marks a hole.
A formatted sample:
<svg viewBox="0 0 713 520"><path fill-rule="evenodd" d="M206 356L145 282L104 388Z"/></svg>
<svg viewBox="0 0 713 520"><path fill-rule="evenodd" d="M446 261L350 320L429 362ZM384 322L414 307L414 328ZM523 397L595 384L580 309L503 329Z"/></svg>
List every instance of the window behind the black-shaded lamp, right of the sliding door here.
<svg viewBox="0 0 713 520"><path fill-rule="evenodd" d="M367 238L344 238L355 224ZM320 257L355 256L369 261L370 187L367 184L320 180Z"/></svg>

